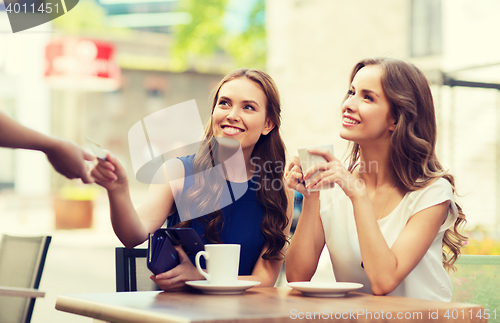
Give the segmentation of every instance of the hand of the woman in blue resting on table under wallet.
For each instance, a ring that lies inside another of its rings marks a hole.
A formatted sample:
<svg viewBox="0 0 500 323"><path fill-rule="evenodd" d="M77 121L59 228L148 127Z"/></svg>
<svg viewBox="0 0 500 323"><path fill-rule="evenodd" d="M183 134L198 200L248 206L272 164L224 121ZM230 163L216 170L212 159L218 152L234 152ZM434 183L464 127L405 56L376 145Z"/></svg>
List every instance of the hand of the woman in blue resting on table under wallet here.
<svg viewBox="0 0 500 323"><path fill-rule="evenodd" d="M180 264L177 265L174 269L171 269L167 272L151 275L151 279L164 291L178 291L182 290L186 286L187 281L191 280L204 280L203 277L196 269L195 266L189 260L188 255L184 252L182 247L175 246L179 254Z"/></svg>

